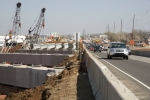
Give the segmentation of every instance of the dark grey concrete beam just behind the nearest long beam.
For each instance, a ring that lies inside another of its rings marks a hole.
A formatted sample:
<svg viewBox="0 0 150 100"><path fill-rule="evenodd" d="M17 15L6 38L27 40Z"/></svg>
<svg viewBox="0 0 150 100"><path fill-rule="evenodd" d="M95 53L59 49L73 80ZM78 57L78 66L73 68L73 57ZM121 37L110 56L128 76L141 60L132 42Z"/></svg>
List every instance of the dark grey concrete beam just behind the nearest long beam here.
<svg viewBox="0 0 150 100"><path fill-rule="evenodd" d="M0 62L56 66L68 56L68 54L0 53Z"/></svg>

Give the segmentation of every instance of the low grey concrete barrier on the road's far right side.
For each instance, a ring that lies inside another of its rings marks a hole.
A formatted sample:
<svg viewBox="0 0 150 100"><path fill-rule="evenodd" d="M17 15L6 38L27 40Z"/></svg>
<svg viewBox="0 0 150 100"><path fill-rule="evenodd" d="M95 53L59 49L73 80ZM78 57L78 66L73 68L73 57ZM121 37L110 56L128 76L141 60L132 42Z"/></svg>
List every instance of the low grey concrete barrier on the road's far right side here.
<svg viewBox="0 0 150 100"><path fill-rule="evenodd" d="M132 50L131 54L132 55L137 55L137 56L143 56L143 57L150 57L150 51Z"/></svg>

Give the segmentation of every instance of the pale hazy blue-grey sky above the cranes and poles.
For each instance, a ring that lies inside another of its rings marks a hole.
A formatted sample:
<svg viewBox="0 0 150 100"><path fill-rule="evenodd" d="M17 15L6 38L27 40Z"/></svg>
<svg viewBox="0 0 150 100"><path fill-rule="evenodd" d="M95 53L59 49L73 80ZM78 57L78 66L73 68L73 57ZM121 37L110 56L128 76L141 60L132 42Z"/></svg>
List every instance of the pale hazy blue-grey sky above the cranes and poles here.
<svg viewBox="0 0 150 100"><path fill-rule="evenodd" d="M134 14L134 29L150 31L150 0L0 0L0 34L6 35L12 29L18 2L22 4L21 34L24 35L42 8L46 8L45 34L82 34L84 29L86 34L104 33L108 24L109 30L117 33L121 30L121 19L122 31L131 32Z"/></svg>

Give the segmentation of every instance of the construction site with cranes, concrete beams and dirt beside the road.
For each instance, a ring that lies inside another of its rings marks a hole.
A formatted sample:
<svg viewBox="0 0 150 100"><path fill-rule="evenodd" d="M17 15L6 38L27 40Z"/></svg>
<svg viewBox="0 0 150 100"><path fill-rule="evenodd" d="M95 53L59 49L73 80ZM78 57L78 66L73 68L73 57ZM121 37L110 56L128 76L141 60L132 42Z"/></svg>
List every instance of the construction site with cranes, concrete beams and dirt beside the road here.
<svg viewBox="0 0 150 100"><path fill-rule="evenodd" d="M0 38L0 100L94 100L79 34L72 42L41 36L42 8L37 24L21 36L21 5L9 34Z"/></svg>

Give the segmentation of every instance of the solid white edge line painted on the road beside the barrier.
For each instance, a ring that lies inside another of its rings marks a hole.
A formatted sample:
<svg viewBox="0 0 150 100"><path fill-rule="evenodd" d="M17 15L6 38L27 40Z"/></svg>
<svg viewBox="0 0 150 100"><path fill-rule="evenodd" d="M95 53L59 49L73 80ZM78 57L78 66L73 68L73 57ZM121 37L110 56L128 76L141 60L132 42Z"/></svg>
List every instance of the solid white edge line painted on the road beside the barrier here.
<svg viewBox="0 0 150 100"><path fill-rule="evenodd" d="M94 54L94 55L95 55L95 54ZM95 56L96 56L96 57L99 57L99 56L97 56L97 55L95 55ZM99 58L101 58L101 57L99 57ZM124 73L125 75L129 76L130 78L134 79L135 81L137 81L138 83L140 83L141 85L143 85L144 87L146 87L147 89L150 90L150 87L147 86L146 84L142 83L142 82L139 81L138 79L134 78L133 76L131 76L131 75L127 74L126 72L122 71L121 69L117 68L116 66L114 66L114 65L111 64L111 63L109 63L108 61L106 61L106 60L104 60L104 59L102 59L102 60L105 61L106 63L110 64L112 67L116 68L116 69L119 70L120 72Z"/></svg>

